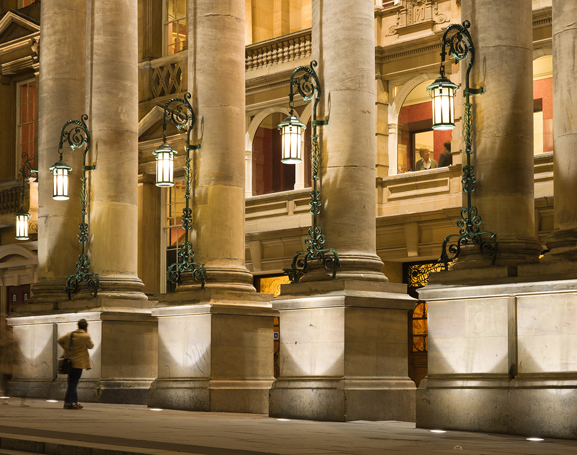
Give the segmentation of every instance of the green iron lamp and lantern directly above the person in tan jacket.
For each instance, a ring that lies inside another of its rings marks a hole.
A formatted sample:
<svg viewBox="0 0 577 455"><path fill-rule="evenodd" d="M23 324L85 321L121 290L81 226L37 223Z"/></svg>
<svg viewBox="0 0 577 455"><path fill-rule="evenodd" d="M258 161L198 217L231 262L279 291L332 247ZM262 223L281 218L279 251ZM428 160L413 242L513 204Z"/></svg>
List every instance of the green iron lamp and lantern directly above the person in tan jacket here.
<svg viewBox="0 0 577 455"><path fill-rule="evenodd" d="M78 224L79 232L78 242L82 245L81 253L78 255L78 262L76 262L76 273L68 277L66 281L65 291L68 293L68 300L72 299L72 292L78 290L78 286L83 281L86 281L88 290L92 292L92 298L96 298L98 294L99 277L98 273L90 272L90 261L86 252L86 243L88 242L88 223L87 216L87 202L88 192L86 185L86 172L92 171L96 165L86 166L86 155L90 149L90 133L86 126L88 115L84 114L80 120L69 120L62 127L60 133L60 143L58 144L58 152L60 153L59 160L50 168L53 176L53 199L57 201L65 201L68 197L68 174L72 168L62 160L62 145L68 142L72 150L84 147L82 160L82 176L80 178L80 206L82 213L82 223Z"/></svg>

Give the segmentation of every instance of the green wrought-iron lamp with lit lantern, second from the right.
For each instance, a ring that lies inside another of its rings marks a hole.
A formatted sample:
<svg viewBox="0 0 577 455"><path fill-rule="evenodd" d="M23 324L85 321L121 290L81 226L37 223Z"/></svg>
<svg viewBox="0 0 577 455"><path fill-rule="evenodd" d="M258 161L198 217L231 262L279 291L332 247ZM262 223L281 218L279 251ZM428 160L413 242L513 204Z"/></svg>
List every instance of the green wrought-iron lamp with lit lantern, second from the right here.
<svg viewBox="0 0 577 455"><path fill-rule="evenodd" d="M307 272L309 261L320 260L324 268L332 269L332 279L336 278L336 270L340 267L339 255L335 249L323 248L325 236L321 228L317 225L317 215L321 212L321 195L319 191L319 134L317 126L328 125L328 119L317 119L317 105L321 95L321 86L319 76L314 71L317 66L316 61L312 61L309 66L299 66L290 77L290 95L288 95L288 106L290 106L290 115L284 119L278 126L282 137L282 156L283 163L299 163L301 161L301 137L305 129L297 116L294 115L294 89L297 89L299 95L305 103L314 97L313 114L312 114L312 149L310 153L312 164L312 191L310 191L310 213L313 216L313 225L309 228L309 235L305 238L306 250L298 251L293 257L293 263L290 269L284 269L291 283L298 283L301 277ZM297 74L299 77L297 78ZM304 254L304 257L300 257Z"/></svg>

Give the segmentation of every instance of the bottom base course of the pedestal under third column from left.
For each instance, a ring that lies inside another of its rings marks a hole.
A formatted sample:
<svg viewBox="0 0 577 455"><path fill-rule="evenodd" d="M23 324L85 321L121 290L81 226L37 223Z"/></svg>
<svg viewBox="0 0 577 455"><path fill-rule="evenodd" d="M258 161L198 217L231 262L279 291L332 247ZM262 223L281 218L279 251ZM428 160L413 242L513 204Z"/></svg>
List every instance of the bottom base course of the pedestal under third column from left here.
<svg viewBox="0 0 577 455"><path fill-rule="evenodd" d="M272 382L272 379L263 381L156 379L148 392L148 407L266 414Z"/></svg>

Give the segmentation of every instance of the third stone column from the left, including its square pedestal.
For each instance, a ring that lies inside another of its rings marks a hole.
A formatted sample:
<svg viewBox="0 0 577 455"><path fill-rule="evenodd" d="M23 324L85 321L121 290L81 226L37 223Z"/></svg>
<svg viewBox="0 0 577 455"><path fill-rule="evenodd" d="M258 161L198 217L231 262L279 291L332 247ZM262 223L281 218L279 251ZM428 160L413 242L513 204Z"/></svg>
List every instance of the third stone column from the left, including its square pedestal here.
<svg viewBox="0 0 577 455"><path fill-rule="evenodd" d="M189 85L197 115L193 247L206 289L186 276L164 294L158 377L148 405L268 411L273 376L271 294L245 267L245 2L189 0Z"/></svg>

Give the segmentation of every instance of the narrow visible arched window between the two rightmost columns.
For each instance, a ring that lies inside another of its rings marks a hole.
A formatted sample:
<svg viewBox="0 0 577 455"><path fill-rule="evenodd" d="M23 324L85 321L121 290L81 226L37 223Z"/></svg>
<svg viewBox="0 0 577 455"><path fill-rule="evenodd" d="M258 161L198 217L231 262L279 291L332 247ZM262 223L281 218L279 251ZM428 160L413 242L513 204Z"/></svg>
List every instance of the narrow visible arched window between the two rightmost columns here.
<svg viewBox="0 0 577 455"><path fill-rule="evenodd" d="M553 151L553 57L533 61L533 152Z"/></svg>

